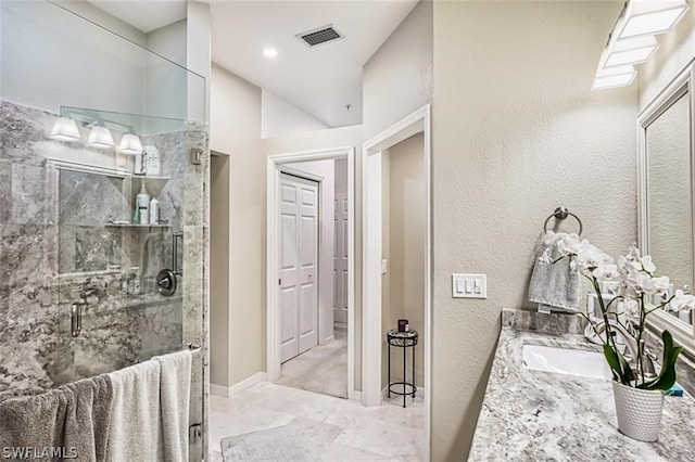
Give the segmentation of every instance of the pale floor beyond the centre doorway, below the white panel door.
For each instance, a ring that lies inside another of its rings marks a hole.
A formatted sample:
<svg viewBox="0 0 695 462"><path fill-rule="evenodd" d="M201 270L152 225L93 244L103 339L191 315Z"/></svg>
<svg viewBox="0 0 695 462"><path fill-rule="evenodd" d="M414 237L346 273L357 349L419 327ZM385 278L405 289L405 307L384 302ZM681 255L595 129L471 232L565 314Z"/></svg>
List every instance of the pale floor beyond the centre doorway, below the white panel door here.
<svg viewBox="0 0 695 462"><path fill-rule="evenodd" d="M348 398L348 324L333 324L336 338L282 364L280 385Z"/></svg>

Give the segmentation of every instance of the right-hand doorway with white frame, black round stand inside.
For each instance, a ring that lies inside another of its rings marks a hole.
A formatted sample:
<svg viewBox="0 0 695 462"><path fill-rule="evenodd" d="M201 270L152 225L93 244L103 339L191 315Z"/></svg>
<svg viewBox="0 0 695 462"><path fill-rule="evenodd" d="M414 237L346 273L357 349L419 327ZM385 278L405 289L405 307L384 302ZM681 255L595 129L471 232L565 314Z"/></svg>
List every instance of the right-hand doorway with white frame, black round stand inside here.
<svg viewBox="0 0 695 462"><path fill-rule="evenodd" d="M419 165L413 166L414 161ZM430 162L429 105L367 141L362 152L363 402L365 406L381 405L389 388L384 378L388 376L386 331L396 328L401 317L410 318L419 324L410 324L410 329L418 331L418 346L421 344L422 348L418 360L420 371L408 365L415 372L416 395L424 398L424 429L428 446L432 392ZM395 170L400 175L394 177L391 174ZM392 180L396 184L391 184ZM394 273L389 272L390 262L397 268L394 268ZM397 285L400 293L394 293L390 285ZM387 323L392 325L384 325ZM401 360L399 352L391 358L392 361L394 358Z"/></svg>

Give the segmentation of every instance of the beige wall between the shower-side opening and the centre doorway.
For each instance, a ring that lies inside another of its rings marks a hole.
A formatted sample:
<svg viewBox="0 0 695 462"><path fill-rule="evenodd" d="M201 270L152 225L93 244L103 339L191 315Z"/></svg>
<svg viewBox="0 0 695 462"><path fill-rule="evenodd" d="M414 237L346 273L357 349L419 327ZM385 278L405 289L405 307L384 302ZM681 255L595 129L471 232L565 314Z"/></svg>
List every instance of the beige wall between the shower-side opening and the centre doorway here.
<svg viewBox="0 0 695 462"><path fill-rule="evenodd" d="M261 89L213 65L211 111L211 147L229 156L230 291L228 323L211 335L213 342L217 336L229 338L228 357L212 351L211 367L227 361L226 381L214 383L230 386L265 371L266 169L261 145ZM211 253L216 252L212 247ZM211 307L211 324L225 319L224 308Z"/></svg>

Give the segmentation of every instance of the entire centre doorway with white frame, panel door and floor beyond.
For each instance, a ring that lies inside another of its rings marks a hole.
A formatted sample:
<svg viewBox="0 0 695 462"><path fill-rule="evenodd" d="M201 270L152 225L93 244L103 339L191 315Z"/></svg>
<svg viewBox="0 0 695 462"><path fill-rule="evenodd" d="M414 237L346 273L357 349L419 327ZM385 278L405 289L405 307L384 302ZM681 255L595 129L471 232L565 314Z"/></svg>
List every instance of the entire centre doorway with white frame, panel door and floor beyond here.
<svg viewBox="0 0 695 462"><path fill-rule="evenodd" d="M354 397L354 147L268 156L268 381Z"/></svg>

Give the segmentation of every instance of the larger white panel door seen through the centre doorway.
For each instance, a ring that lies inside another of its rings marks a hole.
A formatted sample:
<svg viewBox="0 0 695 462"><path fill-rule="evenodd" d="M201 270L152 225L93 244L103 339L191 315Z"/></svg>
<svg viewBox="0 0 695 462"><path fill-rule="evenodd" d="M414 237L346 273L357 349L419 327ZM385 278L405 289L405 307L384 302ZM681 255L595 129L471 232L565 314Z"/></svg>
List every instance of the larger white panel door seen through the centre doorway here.
<svg viewBox="0 0 695 462"><path fill-rule="evenodd" d="M318 183L280 176L280 362L318 341Z"/></svg>

